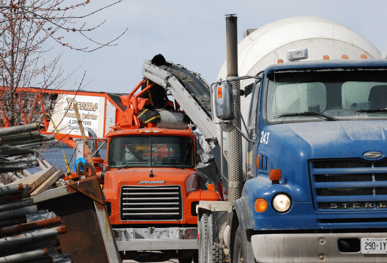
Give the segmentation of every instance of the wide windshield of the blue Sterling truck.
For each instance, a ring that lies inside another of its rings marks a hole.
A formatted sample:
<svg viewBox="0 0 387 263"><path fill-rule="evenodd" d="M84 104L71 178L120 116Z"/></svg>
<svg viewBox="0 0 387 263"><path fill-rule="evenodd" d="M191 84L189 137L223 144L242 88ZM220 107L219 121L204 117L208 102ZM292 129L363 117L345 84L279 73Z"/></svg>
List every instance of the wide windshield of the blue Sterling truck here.
<svg viewBox="0 0 387 263"><path fill-rule="evenodd" d="M385 70L268 74L266 119L271 123L387 119Z"/></svg>

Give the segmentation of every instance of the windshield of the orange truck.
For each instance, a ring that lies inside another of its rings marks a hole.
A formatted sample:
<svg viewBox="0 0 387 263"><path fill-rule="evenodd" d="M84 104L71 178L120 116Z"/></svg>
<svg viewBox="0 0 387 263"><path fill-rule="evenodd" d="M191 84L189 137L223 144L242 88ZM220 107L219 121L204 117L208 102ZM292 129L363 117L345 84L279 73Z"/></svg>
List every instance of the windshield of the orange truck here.
<svg viewBox="0 0 387 263"><path fill-rule="evenodd" d="M122 167L194 167L194 143L182 136L125 136L109 143L108 164Z"/></svg>

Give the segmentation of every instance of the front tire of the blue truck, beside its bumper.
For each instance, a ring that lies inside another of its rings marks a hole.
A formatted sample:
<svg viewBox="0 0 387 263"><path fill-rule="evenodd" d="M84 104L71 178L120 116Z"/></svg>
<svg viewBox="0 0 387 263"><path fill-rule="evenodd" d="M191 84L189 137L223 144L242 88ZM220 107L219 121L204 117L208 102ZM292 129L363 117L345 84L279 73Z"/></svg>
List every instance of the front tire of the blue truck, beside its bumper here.
<svg viewBox="0 0 387 263"><path fill-rule="evenodd" d="M232 237L231 237L232 238ZM240 226L236 229L232 248L232 263L255 262L253 247L247 240L246 232Z"/></svg>

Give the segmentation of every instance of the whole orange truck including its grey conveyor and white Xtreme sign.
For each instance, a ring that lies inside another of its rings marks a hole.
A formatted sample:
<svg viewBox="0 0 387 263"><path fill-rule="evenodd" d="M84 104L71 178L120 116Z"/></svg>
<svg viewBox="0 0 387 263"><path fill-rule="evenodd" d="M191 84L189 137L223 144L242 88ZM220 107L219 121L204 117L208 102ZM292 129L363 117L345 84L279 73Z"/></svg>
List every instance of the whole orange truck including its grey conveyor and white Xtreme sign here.
<svg viewBox="0 0 387 263"><path fill-rule="evenodd" d="M160 56L145 63L147 77L129 95L58 95L47 133L60 130L57 139L83 152L77 101L88 137L107 142L104 162L93 160L123 260L198 262L199 201L224 200L210 150L216 142L209 138L209 89L200 76ZM166 81L179 92L172 94ZM175 96L190 106L183 109ZM82 165L76 166L82 173Z"/></svg>

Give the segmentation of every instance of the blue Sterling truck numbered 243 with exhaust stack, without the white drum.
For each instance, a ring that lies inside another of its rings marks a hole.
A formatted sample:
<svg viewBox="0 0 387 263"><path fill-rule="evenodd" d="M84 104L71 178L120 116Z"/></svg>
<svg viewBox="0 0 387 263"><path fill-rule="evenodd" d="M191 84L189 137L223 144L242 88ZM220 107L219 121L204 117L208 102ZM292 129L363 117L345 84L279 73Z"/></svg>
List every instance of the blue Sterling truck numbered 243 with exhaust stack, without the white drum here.
<svg viewBox="0 0 387 263"><path fill-rule="evenodd" d="M253 76L242 173L235 54L213 89L229 202L200 202L199 261L387 262L387 60L301 49Z"/></svg>

